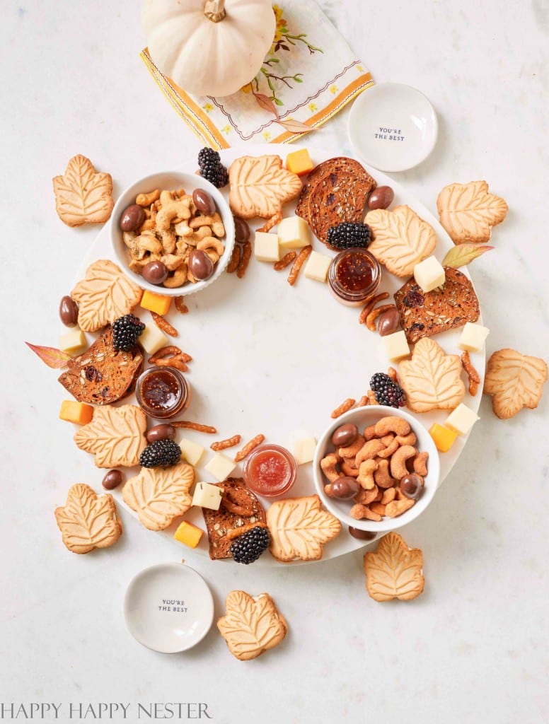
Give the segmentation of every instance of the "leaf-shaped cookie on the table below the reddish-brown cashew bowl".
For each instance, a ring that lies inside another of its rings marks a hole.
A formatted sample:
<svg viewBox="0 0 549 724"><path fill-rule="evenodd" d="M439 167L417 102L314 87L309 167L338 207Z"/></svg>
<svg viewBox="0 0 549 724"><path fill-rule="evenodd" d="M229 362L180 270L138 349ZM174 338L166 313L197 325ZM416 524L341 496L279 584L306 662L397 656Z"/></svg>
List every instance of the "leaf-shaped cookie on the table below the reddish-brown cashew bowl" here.
<svg viewBox="0 0 549 724"><path fill-rule="evenodd" d="M423 592L423 555L409 549L398 533L383 536L374 552L364 555L366 590L375 601L409 601Z"/></svg>

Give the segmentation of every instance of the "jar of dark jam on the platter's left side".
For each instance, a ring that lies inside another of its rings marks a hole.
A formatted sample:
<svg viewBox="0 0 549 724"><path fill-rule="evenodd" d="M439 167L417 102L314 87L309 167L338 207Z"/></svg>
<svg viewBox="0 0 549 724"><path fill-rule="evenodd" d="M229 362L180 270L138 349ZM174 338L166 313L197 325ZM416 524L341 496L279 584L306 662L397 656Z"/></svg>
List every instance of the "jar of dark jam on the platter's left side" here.
<svg viewBox="0 0 549 724"><path fill-rule="evenodd" d="M188 408L190 386L174 367L151 367L138 377L135 397L149 417L165 420Z"/></svg>

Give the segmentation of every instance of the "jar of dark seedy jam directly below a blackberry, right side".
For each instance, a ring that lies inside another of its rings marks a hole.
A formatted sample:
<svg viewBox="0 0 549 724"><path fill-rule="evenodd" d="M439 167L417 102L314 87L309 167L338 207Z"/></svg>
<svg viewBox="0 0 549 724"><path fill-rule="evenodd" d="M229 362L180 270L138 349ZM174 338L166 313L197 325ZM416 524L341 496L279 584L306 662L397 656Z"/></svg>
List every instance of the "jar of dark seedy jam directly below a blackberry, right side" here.
<svg viewBox="0 0 549 724"><path fill-rule="evenodd" d="M335 297L350 307L359 307L377 291L381 266L366 249L344 249L328 269L328 284Z"/></svg>

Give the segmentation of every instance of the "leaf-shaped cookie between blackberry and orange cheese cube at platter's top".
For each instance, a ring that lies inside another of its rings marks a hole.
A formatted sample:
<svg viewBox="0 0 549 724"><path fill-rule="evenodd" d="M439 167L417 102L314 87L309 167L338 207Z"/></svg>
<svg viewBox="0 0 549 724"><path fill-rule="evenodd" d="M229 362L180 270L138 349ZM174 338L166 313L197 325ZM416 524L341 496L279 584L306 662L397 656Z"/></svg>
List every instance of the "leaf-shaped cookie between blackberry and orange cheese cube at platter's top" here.
<svg viewBox="0 0 549 724"><path fill-rule="evenodd" d="M282 219L282 204L301 193L298 175L282 168L280 156L240 156L229 168L229 203L235 216L267 219L267 231Z"/></svg>

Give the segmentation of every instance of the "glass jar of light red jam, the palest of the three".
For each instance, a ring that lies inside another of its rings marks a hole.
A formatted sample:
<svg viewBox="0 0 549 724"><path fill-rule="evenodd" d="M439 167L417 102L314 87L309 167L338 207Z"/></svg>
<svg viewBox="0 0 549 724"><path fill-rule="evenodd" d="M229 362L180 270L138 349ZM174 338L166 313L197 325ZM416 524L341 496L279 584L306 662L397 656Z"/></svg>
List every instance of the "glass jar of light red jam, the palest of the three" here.
<svg viewBox="0 0 549 724"><path fill-rule="evenodd" d="M264 497L276 497L296 482L298 466L293 455L280 445L259 445L244 463L248 488Z"/></svg>

